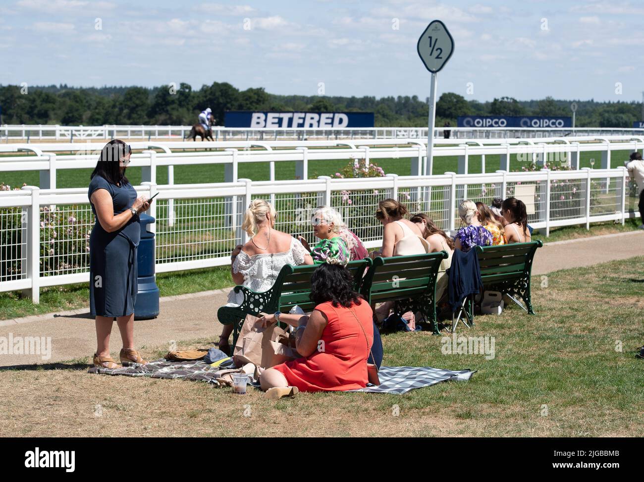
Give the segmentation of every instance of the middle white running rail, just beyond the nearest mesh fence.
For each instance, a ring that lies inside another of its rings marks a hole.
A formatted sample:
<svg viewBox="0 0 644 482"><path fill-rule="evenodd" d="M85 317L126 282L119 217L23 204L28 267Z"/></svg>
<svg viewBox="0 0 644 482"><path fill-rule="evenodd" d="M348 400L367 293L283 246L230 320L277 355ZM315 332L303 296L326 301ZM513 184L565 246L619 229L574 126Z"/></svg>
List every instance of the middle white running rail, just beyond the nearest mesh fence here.
<svg viewBox="0 0 644 482"><path fill-rule="evenodd" d="M189 145L193 148L195 143ZM234 182L238 178L240 164L249 162L267 163L269 178L275 180L276 162L295 162L293 177L307 179L308 162L311 160L354 160L369 161L371 159L412 159L410 175L432 175L433 165L426 161L426 142L413 139L382 139L370 142L348 141L308 141L301 145L292 142L199 142L202 149L223 149L202 152L179 152L183 142L142 142L133 143L134 149L158 148L163 152L146 150L133 154L131 166L142 168L142 179L146 182L157 183L158 168L167 168L168 184L174 184L174 167L197 164L223 164L225 166L224 180ZM33 155L17 155L0 157L0 180L3 171L39 171L40 188L55 189L57 186L56 173L60 169L93 168L96 164L100 149L104 144L48 144L46 147L27 144L0 145L0 153L31 151ZM261 150L251 150L252 147ZM533 142L529 139L518 139L513 142L492 144L490 142L469 140L459 144L436 144L433 157L457 157L454 170L459 174L468 174L469 159L480 157L482 172L486 171L486 156L498 155L500 169L509 171L511 159L519 159L526 164L535 162L559 162L580 167L582 153L597 152L598 167L610 169L623 165L628 159L622 155L616 160L611 159L615 151L638 151L644 148L644 137L615 136L615 137L576 137L567 139L548 139L543 142ZM61 155L57 152L74 151L73 155ZM172 149L175 149L173 151Z"/></svg>

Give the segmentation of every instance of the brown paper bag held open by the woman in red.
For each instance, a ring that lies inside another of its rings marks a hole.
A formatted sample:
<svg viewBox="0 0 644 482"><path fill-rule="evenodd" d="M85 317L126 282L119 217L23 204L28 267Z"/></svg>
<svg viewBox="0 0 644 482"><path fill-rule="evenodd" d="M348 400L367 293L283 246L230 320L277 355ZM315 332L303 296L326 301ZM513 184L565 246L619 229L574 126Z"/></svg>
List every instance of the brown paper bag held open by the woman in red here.
<svg viewBox="0 0 644 482"><path fill-rule="evenodd" d="M258 320L256 316L246 316L232 356L235 366L253 363L261 368L270 368L299 358L298 352L288 344L286 331L276 323L263 328Z"/></svg>

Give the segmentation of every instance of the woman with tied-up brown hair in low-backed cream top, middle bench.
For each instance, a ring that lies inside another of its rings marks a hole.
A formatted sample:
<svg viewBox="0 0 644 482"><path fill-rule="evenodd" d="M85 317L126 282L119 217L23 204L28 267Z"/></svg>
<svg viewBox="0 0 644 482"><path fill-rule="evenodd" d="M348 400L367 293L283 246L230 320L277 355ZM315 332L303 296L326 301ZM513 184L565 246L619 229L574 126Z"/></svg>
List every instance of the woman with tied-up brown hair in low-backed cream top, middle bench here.
<svg viewBox="0 0 644 482"><path fill-rule="evenodd" d="M383 248L372 253L377 256L408 256L428 253L429 246L422 237L421 229L403 217L409 211L403 204L394 199L385 199L378 203L375 217L384 226Z"/></svg>

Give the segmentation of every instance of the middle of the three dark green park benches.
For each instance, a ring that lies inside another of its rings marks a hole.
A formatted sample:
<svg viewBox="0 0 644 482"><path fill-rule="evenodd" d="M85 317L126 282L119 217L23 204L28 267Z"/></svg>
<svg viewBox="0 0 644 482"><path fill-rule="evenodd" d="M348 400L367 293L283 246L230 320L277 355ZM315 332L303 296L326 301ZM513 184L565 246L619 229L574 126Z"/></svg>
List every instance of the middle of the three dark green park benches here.
<svg viewBox="0 0 644 482"><path fill-rule="evenodd" d="M436 280L445 251L423 255L379 256L363 280L361 294L375 309L376 303L395 301L399 314L421 312L440 334L436 320Z"/></svg>

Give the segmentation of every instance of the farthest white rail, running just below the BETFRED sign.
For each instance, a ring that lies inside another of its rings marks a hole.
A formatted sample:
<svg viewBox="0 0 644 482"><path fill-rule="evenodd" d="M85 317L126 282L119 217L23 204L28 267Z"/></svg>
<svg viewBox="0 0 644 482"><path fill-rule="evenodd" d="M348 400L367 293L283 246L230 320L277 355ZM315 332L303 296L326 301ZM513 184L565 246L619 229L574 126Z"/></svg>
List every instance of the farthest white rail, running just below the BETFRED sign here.
<svg viewBox="0 0 644 482"><path fill-rule="evenodd" d="M64 140L64 139L184 139L192 126L60 126L46 124L19 124L0 126L0 139ZM455 139L511 139L513 137L558 137L569 135L644 135L644 129L626 128L471 128L437 127L434 137L445 131ZM426 127L374 128L227 128L213 127L215 140L269 140L269 139L391 139L410 137L427 139Z"/></svg>

